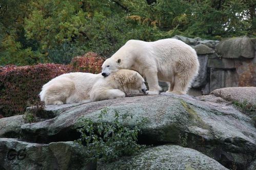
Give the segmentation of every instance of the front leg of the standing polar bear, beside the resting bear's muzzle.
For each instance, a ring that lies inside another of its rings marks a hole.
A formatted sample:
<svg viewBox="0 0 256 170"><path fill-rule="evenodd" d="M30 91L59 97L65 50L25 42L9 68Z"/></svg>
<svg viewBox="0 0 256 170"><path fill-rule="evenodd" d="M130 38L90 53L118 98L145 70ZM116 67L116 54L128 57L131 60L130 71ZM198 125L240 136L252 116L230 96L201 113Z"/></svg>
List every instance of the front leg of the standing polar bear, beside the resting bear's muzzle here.
<svg viewBox="0 0 256 170"><path fill-rule="evenodd" d="M146 91L148 95L159 94L161 87L158 84L157 72L155 71L145 71L145 77L148 83L149 90Z"/></svg>

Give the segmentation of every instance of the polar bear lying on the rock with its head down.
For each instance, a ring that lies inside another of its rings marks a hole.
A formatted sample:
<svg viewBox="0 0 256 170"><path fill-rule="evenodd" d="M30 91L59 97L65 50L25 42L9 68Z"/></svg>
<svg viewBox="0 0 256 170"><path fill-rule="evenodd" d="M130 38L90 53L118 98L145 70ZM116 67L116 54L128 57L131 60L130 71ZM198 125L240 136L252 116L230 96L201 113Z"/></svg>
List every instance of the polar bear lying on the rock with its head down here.
<svg viewBox="0 0 256 170"><path fill-rule="evenodd" d="M67 73L47 82L40 92L46 105L90 102L146 92L143 77L132 70L119 70L108 77L91 73Z"/></svg>

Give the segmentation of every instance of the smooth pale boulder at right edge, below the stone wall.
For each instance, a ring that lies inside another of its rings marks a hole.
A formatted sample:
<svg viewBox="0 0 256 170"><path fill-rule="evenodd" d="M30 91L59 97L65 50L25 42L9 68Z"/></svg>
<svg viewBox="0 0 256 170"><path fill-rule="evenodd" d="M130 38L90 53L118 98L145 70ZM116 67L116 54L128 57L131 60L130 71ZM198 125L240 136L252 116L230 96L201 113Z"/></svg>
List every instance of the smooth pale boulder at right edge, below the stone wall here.
<svg viewBox="0 0 256 170"><path fill-rule="evenodd" d="M256 104L256 87L222 88L212 91L211 94L228 101L242 103L246 100L249 104Z"/></svg>

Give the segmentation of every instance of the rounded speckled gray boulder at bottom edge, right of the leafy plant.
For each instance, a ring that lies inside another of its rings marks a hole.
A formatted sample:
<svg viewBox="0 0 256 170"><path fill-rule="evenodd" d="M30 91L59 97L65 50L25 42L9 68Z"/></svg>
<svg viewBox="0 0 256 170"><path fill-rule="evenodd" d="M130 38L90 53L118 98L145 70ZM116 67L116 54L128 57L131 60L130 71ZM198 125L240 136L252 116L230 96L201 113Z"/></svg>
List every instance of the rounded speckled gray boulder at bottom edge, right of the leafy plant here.
<svg viewBox="0 0 256 170"><path fill-rule="evenodd" d="M190 148L162 145L147 148L112 163L98 163L97 169L227 169L219 162Z"/></svg>

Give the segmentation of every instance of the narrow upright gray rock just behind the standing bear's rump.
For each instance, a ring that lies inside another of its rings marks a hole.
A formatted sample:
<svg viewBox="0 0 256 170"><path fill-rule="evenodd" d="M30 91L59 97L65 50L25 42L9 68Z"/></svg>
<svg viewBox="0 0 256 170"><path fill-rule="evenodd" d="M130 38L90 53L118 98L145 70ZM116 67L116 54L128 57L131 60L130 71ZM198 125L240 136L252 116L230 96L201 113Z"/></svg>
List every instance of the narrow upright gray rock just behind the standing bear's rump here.
<svg viewBox="0 0 256 170"><path fill-rule="evenodd" d="M208 55L198 55L198 60L200 63L199 73L194 78L192 82L193 88L200 88L206 84L207 80L207 63L208 63Z"/></svg>

